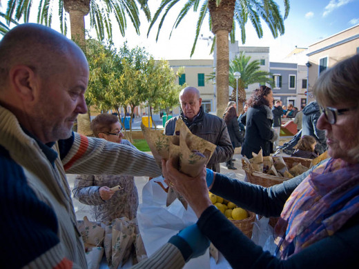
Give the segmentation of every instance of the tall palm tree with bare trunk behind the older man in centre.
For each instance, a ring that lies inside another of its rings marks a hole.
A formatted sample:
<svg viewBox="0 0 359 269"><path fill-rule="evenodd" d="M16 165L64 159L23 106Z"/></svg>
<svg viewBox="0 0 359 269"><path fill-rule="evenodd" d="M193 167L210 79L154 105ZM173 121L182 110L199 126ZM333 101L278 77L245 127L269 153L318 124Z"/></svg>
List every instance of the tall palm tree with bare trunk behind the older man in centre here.
<svg viewBox="0 0 359 269"><path fill-rule="evenodd" d="M289 14L289 0L284 1L284 19ZM159 8L155 12L148 28L148 34L151 31L155 21L159 15L164 11L162 18L159 22L157 37L162 28L166 14L179 0L162 0ZM217 115L222 116L226 104L228 102L228 89L229 89L229 36L234 41L234 33L236 23L240 26L242 43L245 43L246 32L245 25L248 20L253 24L258 37L263 36L262 24L260 19L269 26L273 37L278 37L279 34L284 34L284 23L278 4L273 0L186 0L182 10L179 12L173 28L177 28L179 23L184 19L188 10L197 12L200 7L200 14L197 20L197 28L195 41L193 43L191 56L195 50L195 44L200 35L202 23L206 14L210 15L209 24L210 28L215 34L215 46L217 48L216 58L216 84L217 84ZM172 33L172 31L171 31ZM170 34L171 37L171 34Z"/></svg>

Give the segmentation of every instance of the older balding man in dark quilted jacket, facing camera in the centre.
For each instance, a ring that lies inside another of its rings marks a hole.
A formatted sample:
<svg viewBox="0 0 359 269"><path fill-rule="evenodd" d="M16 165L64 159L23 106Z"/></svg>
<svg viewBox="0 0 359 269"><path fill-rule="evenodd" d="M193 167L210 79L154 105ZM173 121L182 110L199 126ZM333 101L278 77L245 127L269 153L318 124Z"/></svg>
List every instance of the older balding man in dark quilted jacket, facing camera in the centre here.
<svg viewBox="0 0 359 269"><path fill-rule="evenodd" d="M173 135L176 121L181 118L193 135L217 145L208 161L207 168L220 172L220 163L232 159L234 152L226 123L220 117L203 111L202 98L196 88L184 88L179 92L179 101L182 113L166 122L164 126L166 135Z"/></svg>

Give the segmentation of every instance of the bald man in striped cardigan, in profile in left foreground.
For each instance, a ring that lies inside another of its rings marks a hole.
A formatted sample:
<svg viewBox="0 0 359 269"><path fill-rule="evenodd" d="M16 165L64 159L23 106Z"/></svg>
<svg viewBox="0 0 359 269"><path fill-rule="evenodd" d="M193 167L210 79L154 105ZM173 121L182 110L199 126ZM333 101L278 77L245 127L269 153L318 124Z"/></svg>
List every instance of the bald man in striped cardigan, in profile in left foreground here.
<svg viewBox="0 0 359 269"><path fill-rule="evenodd" d="M0 264L87 268L66 173L157 177L153 157L72 132L87 112L84 53L26 23L0 42Z"/></svg>

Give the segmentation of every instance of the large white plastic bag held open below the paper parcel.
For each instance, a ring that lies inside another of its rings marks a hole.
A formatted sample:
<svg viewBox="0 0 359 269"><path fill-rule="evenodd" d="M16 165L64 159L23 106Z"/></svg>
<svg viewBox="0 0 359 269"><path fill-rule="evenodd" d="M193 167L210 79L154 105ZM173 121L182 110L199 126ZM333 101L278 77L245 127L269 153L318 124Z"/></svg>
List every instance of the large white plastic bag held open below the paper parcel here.
<svg viewBox="0 0 359 269"><path fill-rule="evenodd" d="M171 203L171 206L166 206L167 194L156 182L166 185L163 177L148 181L142 190L142 204L137 210L138 227L148 257L167 243L168 239L176 235L179 230L197 221L192 208L188 206L186 210L177 199ZM210 268L209 250L201 257L188 261L184 268Z"/></svg>

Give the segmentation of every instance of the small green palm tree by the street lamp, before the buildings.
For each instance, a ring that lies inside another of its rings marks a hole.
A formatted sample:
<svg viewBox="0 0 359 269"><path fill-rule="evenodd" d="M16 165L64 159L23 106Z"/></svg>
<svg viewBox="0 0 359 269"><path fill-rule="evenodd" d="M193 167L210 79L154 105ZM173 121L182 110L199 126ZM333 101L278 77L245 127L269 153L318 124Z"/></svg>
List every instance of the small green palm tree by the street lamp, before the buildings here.
<svg viewBox="0 0 359 269"><path fill-rule="evenodd" d="M260 70L260 61L251 61L250 56L246 56L244 52L239 57L235 57L229 66L229 86L233 88L231 98L235 101L235 92L237 87L237 81L235 80L234 73L240 72L240 79L238 79L238 112L243 110L243 102L246 101L246 90L249 84L265 83L270 84L273 87L273 79L271 73Z"/></svg>

